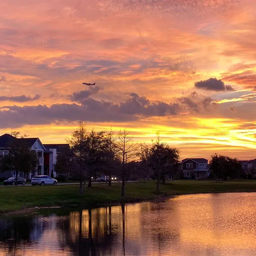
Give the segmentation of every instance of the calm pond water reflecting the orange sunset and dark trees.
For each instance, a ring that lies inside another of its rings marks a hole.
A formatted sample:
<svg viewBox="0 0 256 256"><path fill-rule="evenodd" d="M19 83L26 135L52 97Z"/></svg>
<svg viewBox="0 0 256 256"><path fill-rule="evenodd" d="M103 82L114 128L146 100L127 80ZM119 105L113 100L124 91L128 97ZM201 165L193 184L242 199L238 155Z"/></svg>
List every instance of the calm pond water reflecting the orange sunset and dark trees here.
<svg viewBox="0 0 256 256"><path fill-rule="evenodd" d="M256 255L256 193L0 217L0 256Z"/></svg>

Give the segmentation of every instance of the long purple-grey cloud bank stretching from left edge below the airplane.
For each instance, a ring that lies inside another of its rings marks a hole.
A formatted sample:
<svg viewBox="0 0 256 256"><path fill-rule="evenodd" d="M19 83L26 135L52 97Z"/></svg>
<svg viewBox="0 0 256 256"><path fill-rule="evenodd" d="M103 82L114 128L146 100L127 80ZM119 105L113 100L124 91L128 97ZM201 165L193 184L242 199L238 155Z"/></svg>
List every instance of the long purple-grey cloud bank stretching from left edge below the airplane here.
<svg viewBox="0 0 256 256"><path fill-rule="evenodd" d="M20 127L22 125L50 124L53 122L128 122L151 116L175 116L185 109L199 112L208 109L212 100L204 98L195 101L194 94L177 99L174 103L151 102L136 93L130 93L125 102L119 104L96 100L90 96L99 91L99 87L74 92L69 96L73 104L54 104L51 106L6 106L0 108L0 128ZM198 95L198 94L197 94Z"/></svg>

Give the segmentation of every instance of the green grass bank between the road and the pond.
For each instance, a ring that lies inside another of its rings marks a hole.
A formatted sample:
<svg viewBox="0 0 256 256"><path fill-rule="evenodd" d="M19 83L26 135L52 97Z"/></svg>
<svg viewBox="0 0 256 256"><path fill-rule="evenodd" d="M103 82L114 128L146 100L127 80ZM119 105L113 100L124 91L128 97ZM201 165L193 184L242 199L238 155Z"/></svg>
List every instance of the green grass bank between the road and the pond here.
<svg viewBox="0 0 256 256"><path fill-rule="evenodd" d="M80 204L95 206L183 194L256 192L256 181L237 180L216 183L210 180L177 180L161 184L160 195L156 193L155 182L127 183L125 198L120 196L121 183L115 183L111 187L106 183L93 184L93 187L86 189L83 195L79 195L78 192L78 185L0 187L0 213L36 206L79 206Z"/></svg>

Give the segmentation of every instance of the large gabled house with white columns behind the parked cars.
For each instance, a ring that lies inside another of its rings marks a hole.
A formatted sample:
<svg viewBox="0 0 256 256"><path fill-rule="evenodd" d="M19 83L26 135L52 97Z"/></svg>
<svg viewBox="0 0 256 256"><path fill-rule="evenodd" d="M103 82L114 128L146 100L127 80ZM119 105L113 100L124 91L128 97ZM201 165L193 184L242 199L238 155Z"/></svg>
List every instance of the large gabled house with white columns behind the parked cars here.
<svg viewBox="0 0 256 256"><path fill-rule="evenodd" d="M15 138L10 134L3 134L0 136L0 159L4 157L4 155L9 154L9 145L14 140L24 141L28 147L36 151L38 155L38 166L35 170L32 170L29 174L18 174L18 176L25 177L27 179L31 179L31 177L35 175L51 175L53 171L54 177L56 176L56 172L54 170L54 166L56 163L56 156L58 153L62 152L62 148L69 148L69 144L55 144L43 145L39 138ZM61 148L61 149L59 149ZM0 173L0 177L15 177L15 172L6 171Z"/></svg>

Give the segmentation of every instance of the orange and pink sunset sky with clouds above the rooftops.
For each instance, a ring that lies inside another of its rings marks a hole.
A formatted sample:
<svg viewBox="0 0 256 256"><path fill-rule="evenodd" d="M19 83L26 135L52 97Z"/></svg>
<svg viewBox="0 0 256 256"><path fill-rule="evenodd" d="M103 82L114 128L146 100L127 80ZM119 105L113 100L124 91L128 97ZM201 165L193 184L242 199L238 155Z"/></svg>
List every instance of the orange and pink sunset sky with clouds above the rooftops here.
<svg viewBox="0 0 256 256"><path fill-rule="evenodd" d="M181 158L256 158L255 0L1 0L0 134L81 119ZM96 82L88 87L82 82Z"/></svg>

